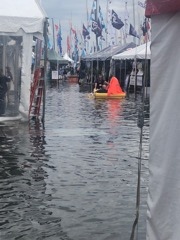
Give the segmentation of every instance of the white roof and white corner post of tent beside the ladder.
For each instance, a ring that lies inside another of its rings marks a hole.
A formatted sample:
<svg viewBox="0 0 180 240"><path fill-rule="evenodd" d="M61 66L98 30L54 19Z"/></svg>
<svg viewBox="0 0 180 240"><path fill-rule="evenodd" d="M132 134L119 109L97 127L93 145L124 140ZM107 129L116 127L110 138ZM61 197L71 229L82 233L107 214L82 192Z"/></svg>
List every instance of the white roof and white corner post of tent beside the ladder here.
<svg viewBox="0 0 180 240"><path fill-rule="evenodd" d="M38 0L6 0L0 7L0 36L22 37L21 95L19 111L28 116L33 36L43 39L46 14ZM6 48L4 42L4 49ZM7 64L6 54L3 56Z"/></svg>

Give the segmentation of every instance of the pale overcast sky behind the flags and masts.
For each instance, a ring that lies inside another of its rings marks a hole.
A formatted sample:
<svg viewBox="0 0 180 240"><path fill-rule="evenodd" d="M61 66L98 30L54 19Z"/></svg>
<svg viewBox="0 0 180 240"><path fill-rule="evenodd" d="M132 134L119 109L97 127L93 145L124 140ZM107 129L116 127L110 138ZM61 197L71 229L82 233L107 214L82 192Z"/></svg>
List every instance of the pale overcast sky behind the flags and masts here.
<svg viewBox="0 0 180 240"><path fill-rule="evenodd" d="M137 4L138 0L127 0L128 12L131 22L133 21L133 1ZM144 2L144 0L141 0ZM82 32L82 24L87 26L87 9L90 14L93 0L40 0L50 21L53 18L55 24L61 24L63 46L66 45L66 38L70 31L70 23L76 30ZM99 0L102 9L104 21L106 23L107 0ZM111 9L115 10L118 16L123 20L125 11L125 0L111 0ZM137 6L135 7L136 18ZM139 9L139 8L138 8ZM141 9L140 9L141 10ZM137 25L137 23L136 23Z"/></svg>

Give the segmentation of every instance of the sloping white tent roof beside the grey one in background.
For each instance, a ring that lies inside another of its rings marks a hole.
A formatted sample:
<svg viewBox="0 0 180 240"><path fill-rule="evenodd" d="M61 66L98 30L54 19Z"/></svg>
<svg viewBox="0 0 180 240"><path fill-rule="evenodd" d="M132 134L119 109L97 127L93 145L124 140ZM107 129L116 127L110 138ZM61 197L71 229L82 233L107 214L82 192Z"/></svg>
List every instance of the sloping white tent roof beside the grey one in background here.
<svg viewBox="0 0 180 240"><path fill-rule="evenodd" d="M112 59L115 60L125 60L125 59L150 59L151 51L150 51L150 42L147 44L142 44L138 47L132 48L130 50L124 51L120 54L116 54L112 56Z"/></svg>

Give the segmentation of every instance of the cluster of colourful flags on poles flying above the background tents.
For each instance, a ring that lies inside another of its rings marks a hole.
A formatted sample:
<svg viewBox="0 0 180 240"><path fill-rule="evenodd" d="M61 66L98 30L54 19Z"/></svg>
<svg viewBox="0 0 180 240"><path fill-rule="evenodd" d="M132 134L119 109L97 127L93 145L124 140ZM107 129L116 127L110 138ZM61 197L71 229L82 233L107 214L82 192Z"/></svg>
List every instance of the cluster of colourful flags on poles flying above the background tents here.
<svg viewBox="0 0 180 240"><path fill-rule="evenodd" d="M94 47L94 40L92 34L98 38L99 44L102 46L102 42L106 39L106 46L110 44L109 39L117 39L117 36L113 36L113 33L119 33L119 38L123 35L125 39L128 36L133 36L135 38L141 39L143 41L149 41L151 37L151 26L150 21L145 19L141 22L138 30L135 28L137 27L132 24L130 21L130 16L128 12L128 0L121 0L124 2L124 11L118 12L117 8L113 8L113 0L107 0L108 8L106 9L106 21L103 15L103 9L101 5L97 6L97 0L92 0L92 8L90 14L88 14L88 21L82 23L82 30L78 30L80 32L80 36L78 35L78 31L76 31L71 26L70 34L66 36L66 51L69 54L73 55L74 60L78 60L79 51L81 50L82 53L80 55L86 54L86 48L90 44L93 44L91 49L95 49ZM146 4L145 0L138 0L137 7L145 9ZM88 10L87 10L88 12ZM63 38L62 38L62 27L61 24L54 24L55 29L55 45L54 48L57 49L58 53L62 56L63 55ZM115 29L115 30L111 30ZM115 41L112 41L111 44L117 44ZM52 43L48 44L48 47L52 47ZM97 49L96 49L97 50Z"/></svg>

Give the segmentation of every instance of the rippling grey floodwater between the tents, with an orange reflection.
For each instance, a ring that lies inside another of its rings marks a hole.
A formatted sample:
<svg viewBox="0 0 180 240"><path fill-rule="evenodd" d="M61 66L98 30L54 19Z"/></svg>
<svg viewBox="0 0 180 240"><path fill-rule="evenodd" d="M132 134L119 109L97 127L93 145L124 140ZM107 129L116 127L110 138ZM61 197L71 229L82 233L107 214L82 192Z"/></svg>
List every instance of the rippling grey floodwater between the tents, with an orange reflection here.
<svg viewBox="0 0 180 240"><path fill-rule="evenodd" d="M47 90L41 124L0 126L1 240L129 240L136 213L141 97L95 100L77 84ZM138 238L145 239L149 107Z"/></svg>

